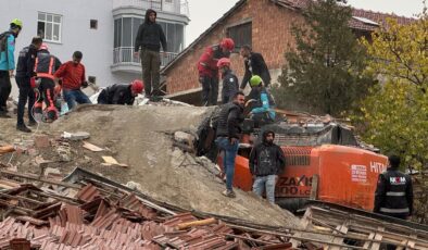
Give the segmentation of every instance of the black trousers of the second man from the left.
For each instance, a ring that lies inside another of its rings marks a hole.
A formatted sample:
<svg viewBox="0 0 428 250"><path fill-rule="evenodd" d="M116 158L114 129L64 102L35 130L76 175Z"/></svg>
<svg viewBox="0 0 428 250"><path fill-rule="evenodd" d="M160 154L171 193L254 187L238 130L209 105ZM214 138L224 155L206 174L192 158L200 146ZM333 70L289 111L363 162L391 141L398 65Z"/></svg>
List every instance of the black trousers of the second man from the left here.
<svg viewBox="0 0 428 250"><path fill-rule="evenodd" d="M24 125L25 104L28 100L28 120L35 122L32 113L32 108L35 102L35 93L29 84L29 77L15 77L16 85L20 88L20 97L17 100L17 121L16 125Z"/></svg>

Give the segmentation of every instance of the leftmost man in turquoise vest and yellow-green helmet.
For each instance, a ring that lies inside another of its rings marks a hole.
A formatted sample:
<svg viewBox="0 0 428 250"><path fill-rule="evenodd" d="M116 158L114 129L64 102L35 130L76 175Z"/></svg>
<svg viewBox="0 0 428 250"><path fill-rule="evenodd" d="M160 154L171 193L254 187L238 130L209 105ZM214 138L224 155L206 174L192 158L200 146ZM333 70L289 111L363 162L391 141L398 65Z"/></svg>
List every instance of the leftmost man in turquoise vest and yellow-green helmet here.
<svg viewBox="0 0 428 250"><path fill-rule="evenodd" d="M8 99L12 91L11 77L15 70L15 39L23 28L23 22L12 20L10 29L0 35L0 117L11 117L8 114Z"/></svg>

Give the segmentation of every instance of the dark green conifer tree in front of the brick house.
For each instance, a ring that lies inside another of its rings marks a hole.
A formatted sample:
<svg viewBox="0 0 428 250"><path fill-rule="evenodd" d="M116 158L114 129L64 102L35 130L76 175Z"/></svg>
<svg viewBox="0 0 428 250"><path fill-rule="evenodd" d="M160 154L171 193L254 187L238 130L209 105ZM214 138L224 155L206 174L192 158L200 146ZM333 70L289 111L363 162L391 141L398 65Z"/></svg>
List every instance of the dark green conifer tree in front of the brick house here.
<svg viewBox="0 0 428 250"><path fill-rule="evenodd" d="M305 24L292 27L295 49L286 52L288 63L274 91L279 105L291 96L340 115L366 95L374 82L363 74L366 53L349 27L351 13L336 0L311 1Z"/></svg>

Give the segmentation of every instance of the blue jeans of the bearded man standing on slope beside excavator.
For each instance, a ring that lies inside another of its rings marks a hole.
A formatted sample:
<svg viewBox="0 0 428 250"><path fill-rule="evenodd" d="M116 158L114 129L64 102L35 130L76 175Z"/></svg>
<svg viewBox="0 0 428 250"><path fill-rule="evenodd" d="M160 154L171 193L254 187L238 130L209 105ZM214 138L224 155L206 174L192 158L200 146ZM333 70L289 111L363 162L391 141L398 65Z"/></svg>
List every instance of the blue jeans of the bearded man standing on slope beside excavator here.
<svg viewBox="0 0 428 250"><path fill-rule="evenodd" d="M235 158L238 154L239 143L230 143L227 137L218 137L215 142L218 146L219 151L224 151L223 167L226 173L226 188L232 190L234 175L235 175Z"/></svg>

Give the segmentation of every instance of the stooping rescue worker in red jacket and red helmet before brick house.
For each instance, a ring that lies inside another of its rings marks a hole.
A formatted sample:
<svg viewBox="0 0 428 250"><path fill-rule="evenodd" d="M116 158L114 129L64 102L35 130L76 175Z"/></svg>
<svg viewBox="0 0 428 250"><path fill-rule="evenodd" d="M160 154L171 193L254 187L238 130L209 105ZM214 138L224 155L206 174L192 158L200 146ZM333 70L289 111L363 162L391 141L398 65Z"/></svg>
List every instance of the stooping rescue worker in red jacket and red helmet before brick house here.
<svg viewBox="0 0 428 250"><path fill-rule="evenodd" d="M216 105L218 98L218 67L222 58L229 58L235 48L231 38L205 49L198 62L199 83L202 85L202 105Z"/></svg>

